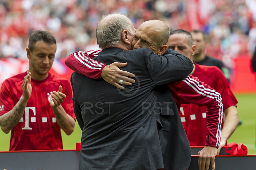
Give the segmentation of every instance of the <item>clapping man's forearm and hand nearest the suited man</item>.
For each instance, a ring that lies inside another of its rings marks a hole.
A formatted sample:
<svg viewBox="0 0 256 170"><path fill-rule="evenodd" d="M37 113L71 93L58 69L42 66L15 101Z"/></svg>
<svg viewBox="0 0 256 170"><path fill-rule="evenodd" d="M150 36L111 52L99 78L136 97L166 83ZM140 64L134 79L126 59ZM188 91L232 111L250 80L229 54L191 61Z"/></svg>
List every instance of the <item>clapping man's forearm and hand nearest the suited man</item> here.
<svg viewBox="0 0 256 170"><path fill-rule="evenodd" d="M59 86L59 91L53 91L51 106L54 112L56 121L60 128L67 134L70 135L75 130L75 120L69 116L64 108L60 105L63 103L63 99L67 96L62 93L62 86Z"/></svg>

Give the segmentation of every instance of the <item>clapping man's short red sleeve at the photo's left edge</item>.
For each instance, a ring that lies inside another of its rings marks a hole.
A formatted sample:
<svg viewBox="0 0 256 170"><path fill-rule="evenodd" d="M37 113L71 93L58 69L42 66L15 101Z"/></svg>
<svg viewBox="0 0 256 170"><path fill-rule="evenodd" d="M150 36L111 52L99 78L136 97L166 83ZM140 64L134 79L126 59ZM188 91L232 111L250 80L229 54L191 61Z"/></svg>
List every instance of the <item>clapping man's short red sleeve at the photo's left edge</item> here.
<svg viewBox="0 0 256 170"><path fill-rule="evenodd" d="M11 86L7 80L5 80L1 87L0 93L0 116L9 112L14 107L13 97L11 93Z"/></svg>

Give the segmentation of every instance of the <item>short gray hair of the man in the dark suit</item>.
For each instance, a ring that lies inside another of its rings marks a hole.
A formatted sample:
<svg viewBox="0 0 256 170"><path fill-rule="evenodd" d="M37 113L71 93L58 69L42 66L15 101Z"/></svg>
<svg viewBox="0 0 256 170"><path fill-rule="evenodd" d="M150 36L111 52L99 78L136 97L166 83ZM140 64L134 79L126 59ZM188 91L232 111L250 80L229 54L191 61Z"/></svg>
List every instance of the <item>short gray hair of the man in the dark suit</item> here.
<svg viewBox="0 0 256 170"><path fill-rule="evenodd" d="M114 16L108 20L107 23L102 23L102 19L109 15ZM122 41L122 32L127 30L129 34L134 35L132 31L130 20L121 13L111 13L104 15L96 28L96 39L97 44L101 49L107 48L109 46L114 46Z"/></svg>

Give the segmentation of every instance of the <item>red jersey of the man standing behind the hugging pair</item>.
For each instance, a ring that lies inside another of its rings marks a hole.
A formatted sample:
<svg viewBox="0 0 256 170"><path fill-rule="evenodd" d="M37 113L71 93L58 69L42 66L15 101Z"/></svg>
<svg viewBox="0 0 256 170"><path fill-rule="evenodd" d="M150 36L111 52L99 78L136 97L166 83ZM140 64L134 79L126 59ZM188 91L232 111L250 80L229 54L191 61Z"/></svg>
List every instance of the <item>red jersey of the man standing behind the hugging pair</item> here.
<svg viewBox="0 0 256 170"><path fill-rule="evenodd" d="M194 64L196 68L192 75L198 77L201 81L210 85L220 93L223 99L223 111L237 104L236 97L230 89L228 80L219 68L216 66ZM207 139L207 127L209 126L207 124L206 107L200 107L195 104L182 104L180 108L180 118L190 145L204 146L205 140Z"/></svg>

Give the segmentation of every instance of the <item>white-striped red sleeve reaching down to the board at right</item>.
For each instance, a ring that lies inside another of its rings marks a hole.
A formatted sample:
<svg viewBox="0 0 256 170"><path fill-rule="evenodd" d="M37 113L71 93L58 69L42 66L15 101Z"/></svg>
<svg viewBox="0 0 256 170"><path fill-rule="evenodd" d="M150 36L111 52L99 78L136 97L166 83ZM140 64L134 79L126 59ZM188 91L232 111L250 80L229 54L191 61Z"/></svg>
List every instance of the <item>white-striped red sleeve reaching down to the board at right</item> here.
<svg viewBox="0 0 256 170"><path fill-rule="evenodd" d="M223 105L220 93L204 82L201 82L198 77L189 75L183 80L180 90L180 102L181 104L196 104L200 107L207 106L205 146L218 148L223 118Z"/></svg>

